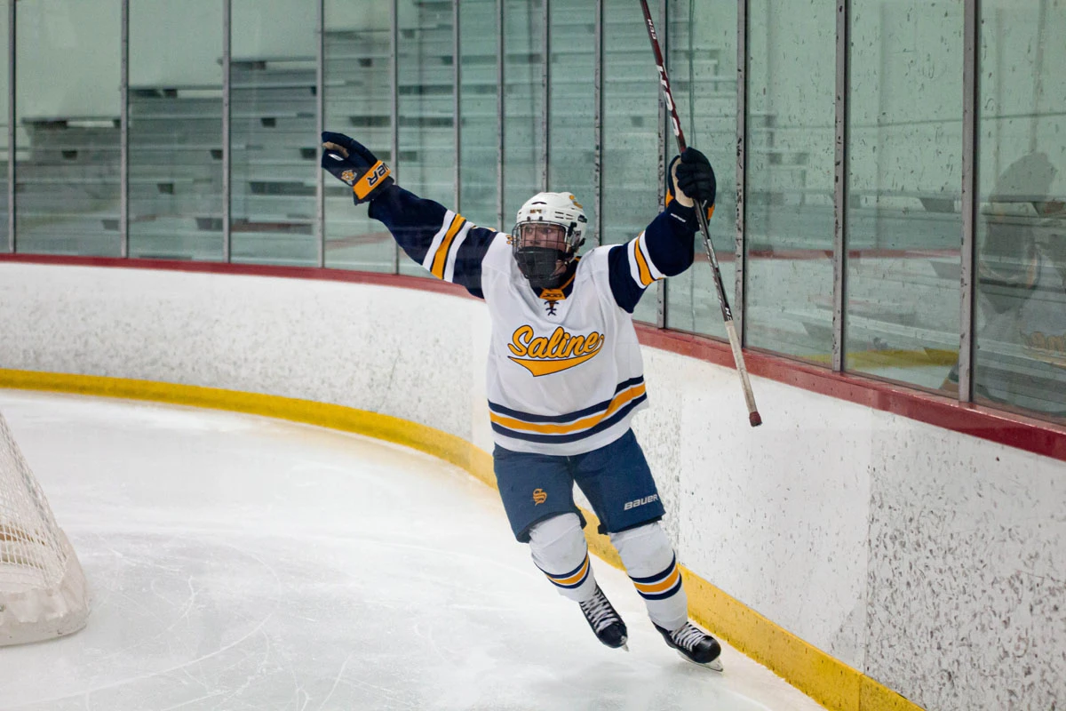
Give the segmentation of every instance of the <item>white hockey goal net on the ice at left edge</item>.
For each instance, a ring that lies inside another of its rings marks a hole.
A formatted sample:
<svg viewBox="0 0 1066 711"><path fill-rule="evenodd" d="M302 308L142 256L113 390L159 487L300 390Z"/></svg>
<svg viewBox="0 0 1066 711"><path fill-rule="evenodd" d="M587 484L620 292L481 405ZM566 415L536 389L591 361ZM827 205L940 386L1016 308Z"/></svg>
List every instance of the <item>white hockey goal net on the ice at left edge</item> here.
<svg viewBox="0 0 1066 711"><path fill-rule="evenodd" d="M87 616L78 556L0 414L0 645L77 632Z"/></svg>

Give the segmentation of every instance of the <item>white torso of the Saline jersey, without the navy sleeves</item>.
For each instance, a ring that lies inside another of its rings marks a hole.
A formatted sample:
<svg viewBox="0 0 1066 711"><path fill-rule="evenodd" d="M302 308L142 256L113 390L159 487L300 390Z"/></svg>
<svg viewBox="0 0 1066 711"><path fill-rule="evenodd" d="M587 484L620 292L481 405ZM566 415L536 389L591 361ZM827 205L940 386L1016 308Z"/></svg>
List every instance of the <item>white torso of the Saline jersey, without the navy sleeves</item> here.
<svg viewBox="0 0 1066 711"><path fill-rule="evenodd" d="M633 320L611 292L610 247L585 255L570 295L548 308L506 238L492 240L481 277L492 319L486 392L496 442L546 454L610 445L647 403Z"/></svg>

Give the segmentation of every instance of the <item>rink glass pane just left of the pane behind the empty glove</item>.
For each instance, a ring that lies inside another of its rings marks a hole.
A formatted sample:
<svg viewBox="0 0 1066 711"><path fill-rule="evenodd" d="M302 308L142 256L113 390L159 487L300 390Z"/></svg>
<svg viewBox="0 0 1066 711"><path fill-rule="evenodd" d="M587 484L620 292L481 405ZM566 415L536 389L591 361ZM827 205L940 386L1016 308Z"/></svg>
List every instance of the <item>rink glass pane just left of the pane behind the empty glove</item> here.
<svg viewBox="0 0 1066 711"><path fill-rule="evenodd" d="M316 264L314 3L231 2L231 260Z"/></svg>

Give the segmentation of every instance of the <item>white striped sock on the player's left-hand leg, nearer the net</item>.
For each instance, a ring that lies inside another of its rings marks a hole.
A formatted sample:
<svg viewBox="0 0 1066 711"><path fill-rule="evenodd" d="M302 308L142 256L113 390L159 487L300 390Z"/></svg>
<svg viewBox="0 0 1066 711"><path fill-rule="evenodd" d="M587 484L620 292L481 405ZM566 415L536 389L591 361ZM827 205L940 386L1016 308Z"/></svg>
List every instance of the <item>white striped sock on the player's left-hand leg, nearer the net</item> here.
<svg viewBox="0 0 1066 711"><path fill-rule="evenodd" d="M577 514L553 516L530 529L530 552L560 595L578 602L592 598L596 577Z"/></svg>

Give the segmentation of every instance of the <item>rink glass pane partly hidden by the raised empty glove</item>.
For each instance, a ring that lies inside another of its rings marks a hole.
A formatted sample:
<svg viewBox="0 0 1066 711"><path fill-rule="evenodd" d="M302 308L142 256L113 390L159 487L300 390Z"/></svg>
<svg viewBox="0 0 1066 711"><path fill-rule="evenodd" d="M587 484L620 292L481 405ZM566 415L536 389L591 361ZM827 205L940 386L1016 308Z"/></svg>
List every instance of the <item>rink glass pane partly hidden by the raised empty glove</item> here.
<svg viewBox="0 0 1066 711"><path fill-rule="evenodd" d="M391 152L389 3L327 0L323 51L325 130L352 136L402 173ZM391 272L397 247L385 226L367 215L366 205L355 206L351 188L333 176L323 184L325 265Z"/></svg>

